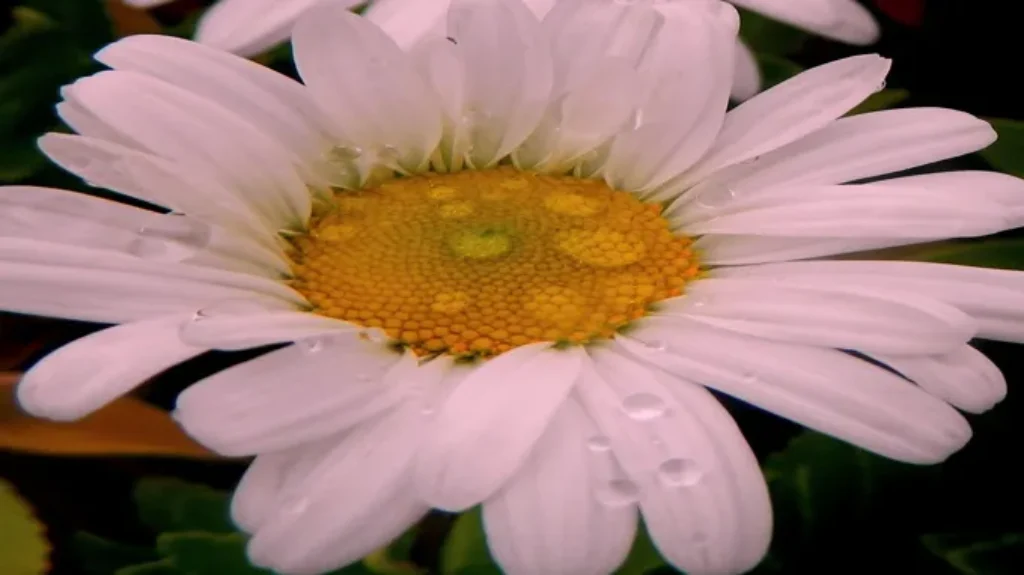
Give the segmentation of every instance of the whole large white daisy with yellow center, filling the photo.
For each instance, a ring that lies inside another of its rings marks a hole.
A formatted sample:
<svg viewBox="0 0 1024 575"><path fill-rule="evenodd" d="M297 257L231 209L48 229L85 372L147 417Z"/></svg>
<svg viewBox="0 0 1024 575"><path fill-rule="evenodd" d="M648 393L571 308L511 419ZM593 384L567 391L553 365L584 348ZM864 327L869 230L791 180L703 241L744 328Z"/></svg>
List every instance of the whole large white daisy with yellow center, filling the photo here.
<svg viewBox="0 0 1024 575"><path fill-rule="evenodd" d="M0 307L118 323L43 359L22 403L71 419L207 349L295 342L175 411L256 455L232 510L255 563L328 571L482 504L511 574L609 573L639 516L710 574L760 561L771 510L709 388L915 463L1005 395L969 341L1024 342L1024 274L808 260L1020 225L1001 174L846 183L982 148L987 124L840 118L883 82L873 55L726 113L717 2L538 23L459 0L447 21L409 53L319 5L293 39L304 87L167 37L100 51L114 71L58 105L80 135L41 146L171 212L2 189Z"/></svg>

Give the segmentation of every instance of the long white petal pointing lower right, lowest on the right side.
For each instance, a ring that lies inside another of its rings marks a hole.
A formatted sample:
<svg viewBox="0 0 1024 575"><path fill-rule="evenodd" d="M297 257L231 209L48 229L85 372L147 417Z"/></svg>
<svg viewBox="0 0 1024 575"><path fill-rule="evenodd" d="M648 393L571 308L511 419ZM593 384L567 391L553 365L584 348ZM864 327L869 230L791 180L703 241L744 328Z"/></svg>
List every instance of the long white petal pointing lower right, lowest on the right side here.
<svg viewBox="0 0 1024 575"><path fill-rule="evenodd" d="M887 457L937 462L971 437L946 403L840 351L674 318L649 319L634 334L639 341L615 341L645 361Z"/></svg>

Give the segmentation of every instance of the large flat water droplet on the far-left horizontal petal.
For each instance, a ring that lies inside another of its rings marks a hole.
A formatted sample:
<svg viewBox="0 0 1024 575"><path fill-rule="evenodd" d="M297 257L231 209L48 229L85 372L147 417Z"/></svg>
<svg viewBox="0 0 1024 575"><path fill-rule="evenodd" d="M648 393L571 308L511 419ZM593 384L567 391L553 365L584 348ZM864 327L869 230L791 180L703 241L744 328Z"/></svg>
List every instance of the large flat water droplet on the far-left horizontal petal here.
<svg viewBox="0 0 1024 575"><path fill-rule="evenodd" d="M180 262L195 256L210 245L212 230L199 220L179 214L154 218L135 232L135 239L126 251L139 258L163 262Z"/></svg>

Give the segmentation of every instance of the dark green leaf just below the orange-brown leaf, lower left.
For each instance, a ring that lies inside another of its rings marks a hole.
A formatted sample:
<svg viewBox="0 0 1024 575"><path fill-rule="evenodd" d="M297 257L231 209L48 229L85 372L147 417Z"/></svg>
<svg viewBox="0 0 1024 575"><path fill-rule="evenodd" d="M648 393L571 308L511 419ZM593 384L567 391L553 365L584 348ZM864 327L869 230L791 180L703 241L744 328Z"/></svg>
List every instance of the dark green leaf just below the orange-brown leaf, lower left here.
<svg viewBox="0 0 1024 575"><path fill-rule="evenodd" d="M135 486L139 517L158 532L232 533L227 494L177 479L143 479Z"/></svg>

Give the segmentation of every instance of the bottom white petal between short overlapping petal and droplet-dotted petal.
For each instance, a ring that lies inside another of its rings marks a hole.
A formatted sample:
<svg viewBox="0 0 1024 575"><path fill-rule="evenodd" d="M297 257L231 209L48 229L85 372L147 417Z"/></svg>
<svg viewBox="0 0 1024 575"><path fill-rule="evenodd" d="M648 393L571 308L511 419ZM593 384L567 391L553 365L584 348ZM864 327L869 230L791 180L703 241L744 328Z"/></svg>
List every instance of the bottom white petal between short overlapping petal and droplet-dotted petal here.
<svg viewBox="0 0 1024 575"><path fill-rule="evenodd" d="M487 545L509 575L606 575L636 533L634 506L607 506L587 442L597 429L566 401L515 477L483 504Z"/></svg>

